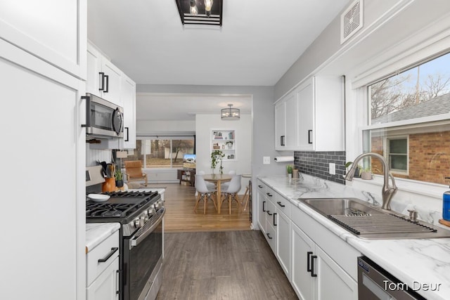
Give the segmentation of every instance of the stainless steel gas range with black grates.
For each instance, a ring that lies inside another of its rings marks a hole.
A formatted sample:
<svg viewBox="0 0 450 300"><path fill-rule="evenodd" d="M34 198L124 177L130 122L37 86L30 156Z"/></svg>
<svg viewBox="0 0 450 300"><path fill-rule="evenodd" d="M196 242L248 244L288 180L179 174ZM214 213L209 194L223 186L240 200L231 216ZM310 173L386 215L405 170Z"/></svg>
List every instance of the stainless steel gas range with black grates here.
<svg viewBox="0 0 450 300"><path fill-rule="evenodd" d="M122 300L152 300L162 283L164 202L158 192L102 193L105 202L86 201L86 223L120 223Z"/></svg>

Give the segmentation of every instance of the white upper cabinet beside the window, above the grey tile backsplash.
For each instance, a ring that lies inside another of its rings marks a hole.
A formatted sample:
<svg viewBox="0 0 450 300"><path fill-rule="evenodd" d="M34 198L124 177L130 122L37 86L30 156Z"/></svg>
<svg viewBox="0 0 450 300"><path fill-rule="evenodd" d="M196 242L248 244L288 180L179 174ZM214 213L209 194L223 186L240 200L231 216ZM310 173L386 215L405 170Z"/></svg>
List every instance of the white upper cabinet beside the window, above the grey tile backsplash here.
<svg viewBox="0 0 450 300"><path fill-rule="evenodd" d="M312 77L277 101L275 150L344 150L342 77Z"/></svg>

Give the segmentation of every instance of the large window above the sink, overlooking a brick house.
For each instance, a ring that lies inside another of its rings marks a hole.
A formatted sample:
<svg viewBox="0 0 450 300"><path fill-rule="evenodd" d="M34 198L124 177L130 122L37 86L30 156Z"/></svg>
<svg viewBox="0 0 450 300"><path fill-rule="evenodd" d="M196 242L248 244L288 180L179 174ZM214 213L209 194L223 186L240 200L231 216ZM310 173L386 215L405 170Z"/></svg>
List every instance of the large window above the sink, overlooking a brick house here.
<svg viewBox="0 0 450 300"><path fill-rule="evenodd" d="M450 54L367 86L364 152L377 152L399 178L447 184L450 175ZM370 161L374 174L383 167ZM367 166L365 166L367 167Z"/></svg>

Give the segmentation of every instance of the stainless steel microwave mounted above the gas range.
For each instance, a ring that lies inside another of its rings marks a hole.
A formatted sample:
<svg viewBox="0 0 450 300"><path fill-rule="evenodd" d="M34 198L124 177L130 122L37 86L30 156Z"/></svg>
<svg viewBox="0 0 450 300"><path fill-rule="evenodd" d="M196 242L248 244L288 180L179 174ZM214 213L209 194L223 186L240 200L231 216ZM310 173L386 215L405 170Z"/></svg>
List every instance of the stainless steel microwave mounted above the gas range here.
<svg viewBox="0 0 450 300"><path fill-rule="evenodd" d="M86 93L86 138L123 138L124 110L109 101Z"/></svg>

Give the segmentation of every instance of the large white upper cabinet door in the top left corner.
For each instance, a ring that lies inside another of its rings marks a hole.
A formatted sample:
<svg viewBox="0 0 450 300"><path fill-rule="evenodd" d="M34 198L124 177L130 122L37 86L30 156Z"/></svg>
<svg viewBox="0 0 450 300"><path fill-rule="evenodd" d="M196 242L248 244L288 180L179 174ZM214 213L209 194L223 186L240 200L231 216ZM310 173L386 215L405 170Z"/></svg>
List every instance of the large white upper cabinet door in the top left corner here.
<svg viewBox="0 0 450 300"><path fill-rule="evenodd" d="M86 0L0 1L0 37L86 79Z"/></svg>

